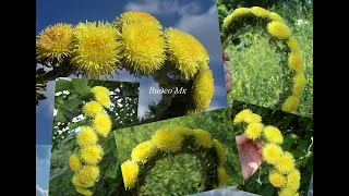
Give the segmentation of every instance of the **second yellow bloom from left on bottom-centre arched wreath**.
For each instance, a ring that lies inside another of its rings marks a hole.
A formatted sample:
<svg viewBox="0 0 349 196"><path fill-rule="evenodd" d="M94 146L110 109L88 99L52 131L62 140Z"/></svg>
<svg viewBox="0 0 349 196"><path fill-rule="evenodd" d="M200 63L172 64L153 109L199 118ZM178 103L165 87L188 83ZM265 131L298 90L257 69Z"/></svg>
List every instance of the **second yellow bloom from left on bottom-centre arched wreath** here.
<svg viewBox="0 0 349 196"><path fill-rule="evenodd" d="M146 161L156 152L156 147L152 140L143 142L133 148L131 157L135 161Z"/></svg>

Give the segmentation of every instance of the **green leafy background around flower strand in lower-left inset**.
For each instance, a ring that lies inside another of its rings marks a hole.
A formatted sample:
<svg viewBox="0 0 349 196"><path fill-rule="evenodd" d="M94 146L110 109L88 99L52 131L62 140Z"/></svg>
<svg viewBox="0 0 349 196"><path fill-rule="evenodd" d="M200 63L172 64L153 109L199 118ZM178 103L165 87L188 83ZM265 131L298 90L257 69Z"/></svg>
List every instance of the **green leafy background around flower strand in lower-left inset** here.
<svg viewBox="0 0 349 196"><path fill-rule="evenodd" d="M49 195L80 195L71 183L73 172L68 160L77 150L76 128L87 123L82 117L82 107L92 100L89 89L94 86L104 86L110 91L111 107L106 111L112 121L112 130L139 123L139 83L58 79L55 94ZM113 133L110 132L106 138L99 137L98 144L104 149L104 158L98 164L100 180L93 187L94 195L122 195L124 188Z"/></svg>

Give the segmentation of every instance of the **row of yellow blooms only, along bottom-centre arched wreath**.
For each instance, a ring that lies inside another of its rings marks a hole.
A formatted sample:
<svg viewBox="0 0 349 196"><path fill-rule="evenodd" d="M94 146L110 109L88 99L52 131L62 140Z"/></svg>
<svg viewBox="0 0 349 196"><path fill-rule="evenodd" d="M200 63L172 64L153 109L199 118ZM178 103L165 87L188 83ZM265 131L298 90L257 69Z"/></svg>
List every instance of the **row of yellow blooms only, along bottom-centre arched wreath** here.
<svg viewBox="0 0 349 196"><path fill-rule="evenodd" d="M185 139L194 140L188 143ZM179 154L184 152L186 147L184 144L193 145L192 150L214 149L217 158L217 185L222 185L227 180L227 172L222 166L225 148L219 140L212 138L210 134L202 128L189 128L185 126L176 126L171 128L157 130L149 140L140 143L131 152L131 159L121 164L122 177L125 189L136 187L140 177L141 169L152 158L158 157L161 154ZM142 167L143 166L143 167Z"/></svg>

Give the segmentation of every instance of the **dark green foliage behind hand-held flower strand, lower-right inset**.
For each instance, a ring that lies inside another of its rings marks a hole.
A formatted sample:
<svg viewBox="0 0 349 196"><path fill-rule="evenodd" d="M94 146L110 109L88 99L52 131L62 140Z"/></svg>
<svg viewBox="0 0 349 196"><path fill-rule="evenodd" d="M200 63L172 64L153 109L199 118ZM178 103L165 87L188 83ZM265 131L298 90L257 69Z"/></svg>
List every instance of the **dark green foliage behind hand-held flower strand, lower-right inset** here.
<svg viewBox="0 0 349 196"><path fill-rule="evenodd" d="M282 149L293 155L297 168L301 172L300 195L306 196L313 173L313 120L236 100L232 102L231 119L244 109L251 109L261 115L263 124L277 126L281 131L284 135ZM233 133L240 135L243 134L243 130L234 130ZM277 188L269 183L268 173L269 166L263 163L261 169L239 189L263 196L277 196Z"/></svg>

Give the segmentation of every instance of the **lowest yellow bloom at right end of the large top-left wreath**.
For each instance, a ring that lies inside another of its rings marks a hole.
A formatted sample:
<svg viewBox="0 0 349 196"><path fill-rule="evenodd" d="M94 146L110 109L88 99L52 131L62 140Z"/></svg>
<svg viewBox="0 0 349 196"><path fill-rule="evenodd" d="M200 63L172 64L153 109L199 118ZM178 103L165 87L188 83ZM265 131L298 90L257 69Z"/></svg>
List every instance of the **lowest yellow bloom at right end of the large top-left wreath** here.
<svg viewBox="0 0 349 196"><path fill-rule="evenodd" d="M195 76L192 90L195 109L206 110L215 93L214 76L210 70L201 71Z"/></svg>

